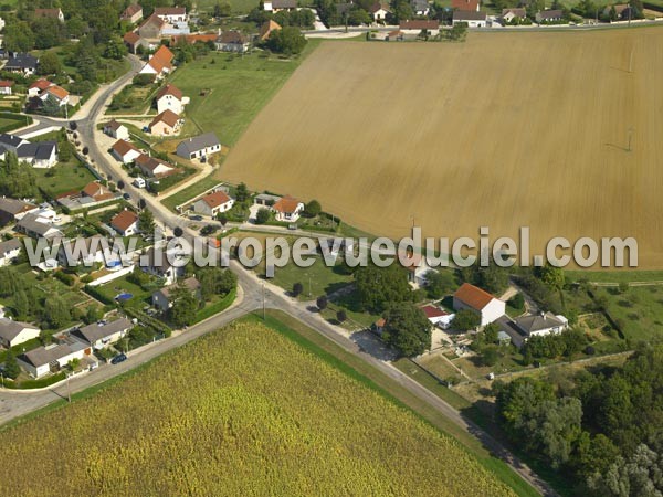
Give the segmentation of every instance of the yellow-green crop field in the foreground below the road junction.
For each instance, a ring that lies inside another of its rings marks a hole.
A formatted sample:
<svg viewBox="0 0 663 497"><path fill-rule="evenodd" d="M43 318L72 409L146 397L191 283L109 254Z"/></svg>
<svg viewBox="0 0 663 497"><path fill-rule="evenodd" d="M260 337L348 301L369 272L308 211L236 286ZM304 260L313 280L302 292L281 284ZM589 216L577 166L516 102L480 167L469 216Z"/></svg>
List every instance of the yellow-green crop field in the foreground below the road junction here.
<svg viewBox="0 0 663 497"><path fill-rule="evenodd" d="M513 493L457 442L276 331L239 322L0 433L0 493Z"/></svg>

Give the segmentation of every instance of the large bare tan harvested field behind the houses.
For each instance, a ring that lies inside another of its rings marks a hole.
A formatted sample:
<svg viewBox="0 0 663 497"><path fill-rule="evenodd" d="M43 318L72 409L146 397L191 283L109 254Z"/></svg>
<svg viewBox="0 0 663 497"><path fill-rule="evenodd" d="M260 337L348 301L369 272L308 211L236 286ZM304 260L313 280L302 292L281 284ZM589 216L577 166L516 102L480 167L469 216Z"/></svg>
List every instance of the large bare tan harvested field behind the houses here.
<svg viewBox="0 0 663 497"><path fill-rule="evenodd" d="M640 265L663 267L661 82L657 28L327 42L221 177L316 198L375 234L411 216L435 236L526 225L533 254L551 236L635 236Z"/></svg>

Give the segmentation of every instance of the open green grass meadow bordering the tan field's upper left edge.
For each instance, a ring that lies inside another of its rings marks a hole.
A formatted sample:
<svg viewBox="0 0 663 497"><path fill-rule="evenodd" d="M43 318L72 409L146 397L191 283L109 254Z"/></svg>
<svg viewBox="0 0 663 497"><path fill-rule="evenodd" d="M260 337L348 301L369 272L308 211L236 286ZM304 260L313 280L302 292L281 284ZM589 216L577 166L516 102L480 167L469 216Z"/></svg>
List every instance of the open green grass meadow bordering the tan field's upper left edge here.
<svg viewBox="0 0 663 497"><path fill-rule="evenodd" d="M244 129L276 94L307 54L319 44L309 41L294 60L214 53L178 68L170 83L191 98L182 135L215 131L223 145L234 145ZM201 96L202 89L210 89Z"/></svg>

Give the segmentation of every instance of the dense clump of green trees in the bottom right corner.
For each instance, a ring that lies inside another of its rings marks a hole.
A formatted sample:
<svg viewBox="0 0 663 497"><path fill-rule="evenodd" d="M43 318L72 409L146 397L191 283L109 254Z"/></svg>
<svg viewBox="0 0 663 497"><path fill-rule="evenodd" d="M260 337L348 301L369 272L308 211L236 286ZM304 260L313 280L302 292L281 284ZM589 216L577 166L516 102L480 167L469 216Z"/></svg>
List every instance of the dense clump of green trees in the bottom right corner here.
<svg viewBox="0 0 663 497"><path fill-rule="evenodd" d="M663 491L663 346L622 368L495 382L499 421L522 450L596 496Z"/></svg>

